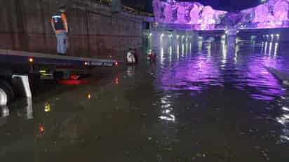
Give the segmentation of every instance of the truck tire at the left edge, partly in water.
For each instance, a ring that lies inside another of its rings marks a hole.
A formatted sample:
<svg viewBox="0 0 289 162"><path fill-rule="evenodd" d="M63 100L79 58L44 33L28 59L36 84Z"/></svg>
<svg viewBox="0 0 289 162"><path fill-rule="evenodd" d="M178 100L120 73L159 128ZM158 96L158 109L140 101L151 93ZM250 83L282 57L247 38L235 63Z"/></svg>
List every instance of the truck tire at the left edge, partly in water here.
<svg viewBox="0 0 289 162"><path fill-rule="evenodd" d="M4 106L14 100L14 92L11 86L4 80L0 80L0 105Z"/></svg>

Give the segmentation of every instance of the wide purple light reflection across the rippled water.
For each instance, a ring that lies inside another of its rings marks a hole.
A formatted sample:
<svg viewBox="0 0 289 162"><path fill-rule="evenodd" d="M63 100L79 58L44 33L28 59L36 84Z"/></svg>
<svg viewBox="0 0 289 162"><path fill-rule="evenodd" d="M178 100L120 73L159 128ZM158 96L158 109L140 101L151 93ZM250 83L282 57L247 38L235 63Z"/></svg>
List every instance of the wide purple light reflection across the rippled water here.
<svg viewBox="0 0 289 162"><path fill-rule="evenodd" d="M166 66L166 62L162 62L166 68L158 73L161 89L204 90L211 86L226 88L225 83L229 83L227 85L248 91L255 100L274 100L285 93L278 80L265 68L279 67L280 60L277 60L276 55L244 55L236 50L251 48L250 46L246 47L248 45L245 44L234 48L231 43L224 42L220 43L216 53L210 50L210 42L204 43L205 48L200 48L200 42L202 40L196 42L194 47L194 51L198 53L182 55L182 60L179 60L177 53L170 53L170 68ZM170 45L168 49L171 48L177 46ZM168 54L165 53L163 57L167 58L166 55ZM175 59L178 61L175 62Z"/></svg>

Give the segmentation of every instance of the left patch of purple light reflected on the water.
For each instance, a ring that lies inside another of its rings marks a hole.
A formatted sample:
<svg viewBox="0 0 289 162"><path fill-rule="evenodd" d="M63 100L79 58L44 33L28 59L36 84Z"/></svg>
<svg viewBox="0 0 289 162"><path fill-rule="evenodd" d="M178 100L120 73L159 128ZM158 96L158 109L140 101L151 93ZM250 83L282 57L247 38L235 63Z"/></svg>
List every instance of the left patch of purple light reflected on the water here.
<svg viewBox="0 0 289 162"><path fill-rule="evenodd" d="M160 74L164 90L202 90L204 85L220 86L215 81L220 76L213 60L200 55L196 60L184 60L174 65L172 70Z"/></svg>

